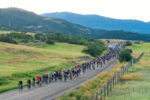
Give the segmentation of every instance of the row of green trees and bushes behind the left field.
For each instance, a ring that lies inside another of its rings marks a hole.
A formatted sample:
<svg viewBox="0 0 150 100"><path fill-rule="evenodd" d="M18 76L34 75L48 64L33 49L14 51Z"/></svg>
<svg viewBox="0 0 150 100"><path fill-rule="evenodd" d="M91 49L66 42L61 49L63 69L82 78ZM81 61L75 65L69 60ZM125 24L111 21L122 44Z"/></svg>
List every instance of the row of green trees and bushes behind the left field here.
<svg viewBox="0 0 150 100"><path fill-rule="evenodd" d="M61 33L37 33L35 35L29 35L26 33L10 33L10 34L1 34L1 42L20 44L20 43L29 43L29 42L45 42L49 45L55 44L55 42L65 42L70 44L84 45L87 48L83 52L90 54L91 56L99 56L105 49L105 45L102 41L85 38L83 36L72 36L65 35Z"/></svg>

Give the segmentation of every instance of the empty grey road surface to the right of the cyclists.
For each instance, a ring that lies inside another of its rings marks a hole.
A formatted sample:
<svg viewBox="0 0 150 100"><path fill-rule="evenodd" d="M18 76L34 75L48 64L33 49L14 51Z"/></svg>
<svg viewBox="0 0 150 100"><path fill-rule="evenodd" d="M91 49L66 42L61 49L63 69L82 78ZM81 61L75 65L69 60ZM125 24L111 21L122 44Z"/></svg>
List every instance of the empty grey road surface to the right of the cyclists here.
<svg viewBox="0 0 150 100"><path fill-rule="evenodd" d="M115 64L116 59L114 58L103 65L102 68L99 66L95 70L88 70L85 74L81 73L79 77L67 80L67 82L53 82L42 87L32 87L30 90L24 88L22 91L15 89L4 92L0 94L0 100L52 100L69 90L78 88L101 72L109 71Z"/></svg>

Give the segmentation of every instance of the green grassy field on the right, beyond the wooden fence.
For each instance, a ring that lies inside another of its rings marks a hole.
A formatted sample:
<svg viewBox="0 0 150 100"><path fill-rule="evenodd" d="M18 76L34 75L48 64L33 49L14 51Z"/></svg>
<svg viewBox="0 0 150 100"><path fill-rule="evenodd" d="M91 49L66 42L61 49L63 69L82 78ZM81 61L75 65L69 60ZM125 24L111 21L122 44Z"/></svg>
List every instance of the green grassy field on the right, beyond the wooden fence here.
<svg viewBox="0 0 150 100"><path fill-rule="evenodd" d="M142 59L134 64L126 73L128 79L114 88L107 100L150 100L150 43L134 44L130 47L134 53L147 52ZM149 53L149 54L148 54ZM136 75L142 75L142 80Z"/></svg>

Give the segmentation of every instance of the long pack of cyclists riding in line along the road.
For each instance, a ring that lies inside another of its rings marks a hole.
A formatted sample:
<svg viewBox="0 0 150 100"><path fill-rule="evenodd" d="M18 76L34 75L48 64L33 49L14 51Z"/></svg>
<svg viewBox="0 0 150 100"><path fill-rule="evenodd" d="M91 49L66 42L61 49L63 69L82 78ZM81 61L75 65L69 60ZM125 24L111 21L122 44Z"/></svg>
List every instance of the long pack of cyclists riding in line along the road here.
<svg viewBox="0 0 150 100"><path fill-rule="evenodd" d="M73 78L78 77L81 72L84 74L87 70L95 70L96 67L102 67L103 64L109 62L110 59L115 58L118 52L120 51L121 44L117 44L115 48L110 48L108 53L104 56L97 57L89 62L83 63L82 65L76 65L73 68L58 70L53 73L43 74L41 76L33 77L32 82L30 79L27 80L27 87L30 89L31 85L33 87L42 86L43 83L51 83L57 81L72 80ZM19 81L19 89L23 89L23 82Z"/></svg>

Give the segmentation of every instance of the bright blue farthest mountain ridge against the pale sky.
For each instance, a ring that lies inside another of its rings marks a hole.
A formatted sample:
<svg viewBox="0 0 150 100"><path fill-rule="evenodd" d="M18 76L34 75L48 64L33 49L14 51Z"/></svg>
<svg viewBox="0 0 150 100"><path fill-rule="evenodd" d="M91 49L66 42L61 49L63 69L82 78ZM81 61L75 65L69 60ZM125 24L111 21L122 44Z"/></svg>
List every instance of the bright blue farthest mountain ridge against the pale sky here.
<svg viewBox="0 0 150 100"><path fill-rule="evenodd" d="M69 12L45 13L42 14L42 16L60 18L75 24L96 29L150 33L150 22L142 22L139 20L121 20L98 15L81 15Z"/></svg>

